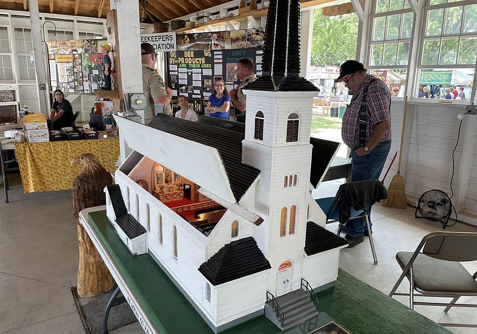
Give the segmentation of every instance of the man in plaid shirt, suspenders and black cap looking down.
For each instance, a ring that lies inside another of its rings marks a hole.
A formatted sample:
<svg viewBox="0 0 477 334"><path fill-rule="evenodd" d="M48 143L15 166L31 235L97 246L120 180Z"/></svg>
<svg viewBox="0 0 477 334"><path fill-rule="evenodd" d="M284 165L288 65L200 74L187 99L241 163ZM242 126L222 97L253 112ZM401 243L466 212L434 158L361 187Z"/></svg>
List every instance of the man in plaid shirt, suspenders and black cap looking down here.
<svg viewBox="0 0 477 334"><path fill-rule="evenodd" d="M347 60L336 82L344 82L353 98L343 116L341 137L351 149L351 181L379 179L391 148L391 95L386 84L367 74L363 64ZM349 248L364 241L364 218L346 223Z"/></svg>

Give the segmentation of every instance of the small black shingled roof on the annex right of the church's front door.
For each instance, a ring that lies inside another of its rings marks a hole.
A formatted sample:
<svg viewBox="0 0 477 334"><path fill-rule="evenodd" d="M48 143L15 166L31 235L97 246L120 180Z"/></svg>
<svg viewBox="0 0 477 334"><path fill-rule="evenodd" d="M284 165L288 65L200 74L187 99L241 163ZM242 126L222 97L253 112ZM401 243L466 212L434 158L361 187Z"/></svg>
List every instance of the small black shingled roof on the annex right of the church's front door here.
<svg viewBox="0 0 477 334"><path fill-rule="evenodd" d="M327 250L347 245L346 239L337 236L326 228L313 222L307 223L307 236L305 239L305 253L308 256L325 252Z"/></svg>

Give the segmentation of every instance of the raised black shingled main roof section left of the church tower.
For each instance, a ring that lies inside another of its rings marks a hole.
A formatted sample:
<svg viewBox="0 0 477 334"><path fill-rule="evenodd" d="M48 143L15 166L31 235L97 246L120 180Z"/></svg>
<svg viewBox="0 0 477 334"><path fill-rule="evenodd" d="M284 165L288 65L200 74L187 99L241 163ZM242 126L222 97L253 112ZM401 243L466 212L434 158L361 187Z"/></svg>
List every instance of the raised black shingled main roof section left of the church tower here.
<svg viewBox="0 0 477 334"><path fill-rule="evenodd" d="M242 164L244 133L191 122L162 113L152 119L149 127L217 148L237 202L260 173L257 168Z"/></svg>

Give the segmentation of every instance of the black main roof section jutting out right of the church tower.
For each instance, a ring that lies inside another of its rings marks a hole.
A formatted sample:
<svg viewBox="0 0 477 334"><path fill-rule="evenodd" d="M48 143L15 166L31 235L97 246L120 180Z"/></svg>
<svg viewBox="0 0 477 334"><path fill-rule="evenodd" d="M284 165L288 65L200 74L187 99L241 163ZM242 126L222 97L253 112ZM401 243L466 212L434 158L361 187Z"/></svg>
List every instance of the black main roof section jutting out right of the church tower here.
<svg viewBox="0 0 477 334"><path fill-rule="evenodd" d="M310 137L310 144L313 145L310 182L316 188L340 143Z"/></svg>

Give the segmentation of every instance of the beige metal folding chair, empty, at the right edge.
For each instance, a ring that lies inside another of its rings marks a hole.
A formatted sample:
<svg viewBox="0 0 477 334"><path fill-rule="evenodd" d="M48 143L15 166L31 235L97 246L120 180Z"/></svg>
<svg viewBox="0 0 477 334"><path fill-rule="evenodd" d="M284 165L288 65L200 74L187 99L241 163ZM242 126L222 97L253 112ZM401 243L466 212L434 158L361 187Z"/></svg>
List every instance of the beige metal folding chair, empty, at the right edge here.
<svg viewBox="0 0 477 334"><path fill-rule="evenodd" d="M477 307L477 304L456 304L461 296L477 297L477 272L474 275L460 264L477 260L477 233L434 232L422 238L414 252L399 252L396 260L403 274L389 293L389 297L409 296L409 307L414 305ZM396 293L404 277L409 280L409 293ZM450 303L414 301L414 290L422 297L452 297ZM440 323L447 327L473 327L477 324Z"/></svg>

